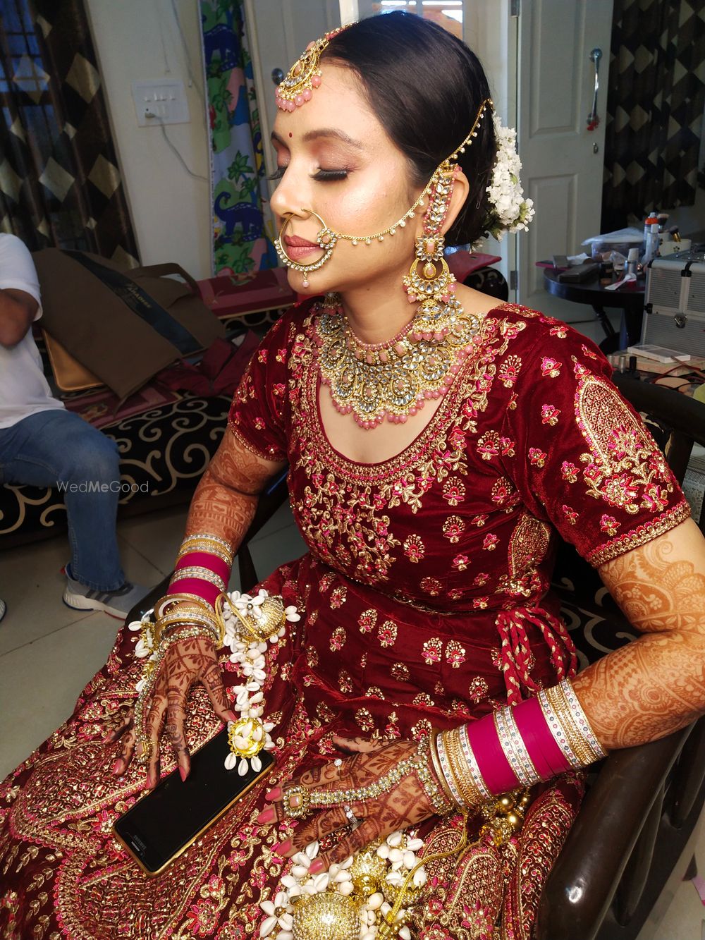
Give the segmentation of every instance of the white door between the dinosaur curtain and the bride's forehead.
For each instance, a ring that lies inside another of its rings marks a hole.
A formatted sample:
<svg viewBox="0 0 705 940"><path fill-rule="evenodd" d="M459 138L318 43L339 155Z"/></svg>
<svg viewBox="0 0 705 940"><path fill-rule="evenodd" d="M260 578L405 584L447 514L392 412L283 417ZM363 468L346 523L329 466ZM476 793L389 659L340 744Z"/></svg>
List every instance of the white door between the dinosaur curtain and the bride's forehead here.
<svg viewBox="0 0 705 940"><path fill-rule="evenodd" d="M258 92L267 173L276 169L269 138L276 118L273 73L282 77L311 39L340 25L339 0L245 0L245 22ZM273 186L275 184L272 184Z"/></svg>

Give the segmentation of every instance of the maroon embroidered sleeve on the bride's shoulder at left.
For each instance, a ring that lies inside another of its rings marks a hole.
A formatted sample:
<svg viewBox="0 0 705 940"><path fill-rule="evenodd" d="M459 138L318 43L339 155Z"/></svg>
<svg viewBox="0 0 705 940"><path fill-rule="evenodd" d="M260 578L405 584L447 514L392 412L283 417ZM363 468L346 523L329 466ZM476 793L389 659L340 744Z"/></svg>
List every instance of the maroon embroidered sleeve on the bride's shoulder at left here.
<svg viewBox="0 0 705 940"><path fill-rule="evenodd" d="M287 364L294 333L290 314L274 323L245 369L230 405L230 431L265 460L287 460Z"/></svg>

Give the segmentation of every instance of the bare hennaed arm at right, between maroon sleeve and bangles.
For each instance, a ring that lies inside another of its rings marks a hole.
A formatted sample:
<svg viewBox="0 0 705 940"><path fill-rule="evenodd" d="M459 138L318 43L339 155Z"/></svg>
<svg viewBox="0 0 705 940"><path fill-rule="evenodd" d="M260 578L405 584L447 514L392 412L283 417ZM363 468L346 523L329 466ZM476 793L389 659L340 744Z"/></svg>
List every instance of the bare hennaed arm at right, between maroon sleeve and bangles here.
<svg viewBox="0 0 705 940"><path fill-rule="evenodd" d="M664 737L705 712L705 538L687 520L599 572L641 634L572 681L611 750Z"/></svg>

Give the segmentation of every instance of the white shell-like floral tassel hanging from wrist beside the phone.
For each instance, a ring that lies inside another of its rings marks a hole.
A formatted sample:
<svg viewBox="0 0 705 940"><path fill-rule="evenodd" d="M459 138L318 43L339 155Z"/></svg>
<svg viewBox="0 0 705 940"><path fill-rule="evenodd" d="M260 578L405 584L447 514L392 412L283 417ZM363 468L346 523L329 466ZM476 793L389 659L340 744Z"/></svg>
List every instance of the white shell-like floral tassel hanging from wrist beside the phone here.
<svg viewBox="0 0 705 940"><path fill-rule="evenodd" d="M285 607L280 597L270 596L261 588L254 597L240 591L231 591L226 596L224 646L231 650L230 662L240 666L243 682L232 689L235 694L232 708L239 717L227 722L230 753L225 765L227 770L237 767L238 774L244 776L250 766L254 771L262 769L259 751L274 748L270 736L274 724L262 719L268 643L278 643L286 634L286 623L296 623L301 618L293 604Z"/></svg>

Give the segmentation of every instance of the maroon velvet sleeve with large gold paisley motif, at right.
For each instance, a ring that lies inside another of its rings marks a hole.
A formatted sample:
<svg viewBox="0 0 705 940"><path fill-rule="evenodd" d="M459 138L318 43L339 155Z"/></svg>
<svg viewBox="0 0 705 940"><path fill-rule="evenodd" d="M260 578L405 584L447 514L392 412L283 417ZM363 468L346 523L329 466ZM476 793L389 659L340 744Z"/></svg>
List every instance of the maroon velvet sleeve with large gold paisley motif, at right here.
<svg viewBox="0 0 705 940"><path fill-rule="evenodd" d="M552 337L527 357L506 417L516 441L508 472L525 505L596 568L690 514L665 457L610 375L583 337Z"/></svg>

